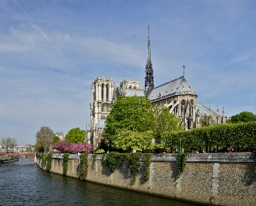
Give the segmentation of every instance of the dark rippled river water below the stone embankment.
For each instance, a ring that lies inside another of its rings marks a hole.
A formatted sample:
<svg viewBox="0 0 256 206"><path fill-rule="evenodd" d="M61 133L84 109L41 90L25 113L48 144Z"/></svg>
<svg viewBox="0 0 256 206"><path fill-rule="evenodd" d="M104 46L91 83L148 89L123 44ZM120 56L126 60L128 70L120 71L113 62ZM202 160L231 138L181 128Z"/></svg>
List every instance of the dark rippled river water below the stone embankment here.
<svg viewBox="0 0 256 206"><path fill-rule="evenodd" d="M34 164L32 158L19 158L19 161L1 165L0 205L195 206L45 172Z"/></svg>

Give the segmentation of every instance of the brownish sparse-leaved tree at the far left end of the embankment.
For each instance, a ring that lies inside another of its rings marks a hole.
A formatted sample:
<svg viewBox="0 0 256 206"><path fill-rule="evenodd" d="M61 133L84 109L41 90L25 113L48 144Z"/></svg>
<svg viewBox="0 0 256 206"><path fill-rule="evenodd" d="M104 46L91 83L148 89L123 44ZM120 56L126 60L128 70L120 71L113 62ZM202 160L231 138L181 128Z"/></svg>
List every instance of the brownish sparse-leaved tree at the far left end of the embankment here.
<svg viewBox="0 0 256 206"><path fill-rule="evenodd" d="M40 130L35 134L36 137L36 145L35 150L40 152L39 150L43 150L41 152L50 151L50 147L53 145L53 138L55 137L55 132L53 132L50 127L41 127Z"/></svg>

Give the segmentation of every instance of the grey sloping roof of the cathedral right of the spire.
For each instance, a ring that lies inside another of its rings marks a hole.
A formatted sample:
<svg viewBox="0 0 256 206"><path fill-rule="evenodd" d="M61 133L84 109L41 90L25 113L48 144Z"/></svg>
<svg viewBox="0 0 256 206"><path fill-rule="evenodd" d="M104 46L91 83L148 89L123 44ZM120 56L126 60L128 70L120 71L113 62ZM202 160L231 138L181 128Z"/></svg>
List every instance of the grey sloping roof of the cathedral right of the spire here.
<svg viewBox="0 0 256 206"><path fill-rule="evenodd" d="M150 95L148 97L152 101L154 99L160 98L161 96L167 96L179 92L189 92L197 94L193 87L190 86L188 81L186 81L185 77L181 76L173 81L169 81L168 83L164 83L163 85L155 87L150 92Z"/></svg>

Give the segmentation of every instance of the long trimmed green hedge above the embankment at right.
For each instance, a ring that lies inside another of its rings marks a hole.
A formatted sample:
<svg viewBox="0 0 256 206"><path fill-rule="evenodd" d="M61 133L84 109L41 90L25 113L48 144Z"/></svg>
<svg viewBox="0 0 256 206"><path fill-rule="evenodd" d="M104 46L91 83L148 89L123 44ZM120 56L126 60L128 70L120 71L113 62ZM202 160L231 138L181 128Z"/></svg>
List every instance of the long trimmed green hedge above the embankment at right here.
<svg viewBox="0 0 256 206"><path fill-rule="evenodd" d="M184 148L198 148L204 145L253 145L256 143L256 121L212 125L180 132L166 132L162 138L165 147L179 147L179 138L181 138L181 144Z"/></svg>

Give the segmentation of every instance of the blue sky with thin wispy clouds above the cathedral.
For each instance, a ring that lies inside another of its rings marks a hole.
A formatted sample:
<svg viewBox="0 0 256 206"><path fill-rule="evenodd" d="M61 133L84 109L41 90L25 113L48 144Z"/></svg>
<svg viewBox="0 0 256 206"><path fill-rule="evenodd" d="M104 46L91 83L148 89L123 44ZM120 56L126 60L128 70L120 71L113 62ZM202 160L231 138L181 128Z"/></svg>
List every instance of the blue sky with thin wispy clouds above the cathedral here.
<svg viewBox="0 0 256 206"><path fill-rule="evenodd" d="M210 108L256 114L256 1L0 1L0 138L90 122L95 76L183 75Z"/></svg>

